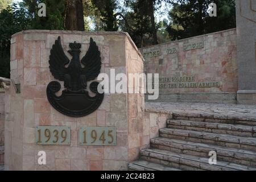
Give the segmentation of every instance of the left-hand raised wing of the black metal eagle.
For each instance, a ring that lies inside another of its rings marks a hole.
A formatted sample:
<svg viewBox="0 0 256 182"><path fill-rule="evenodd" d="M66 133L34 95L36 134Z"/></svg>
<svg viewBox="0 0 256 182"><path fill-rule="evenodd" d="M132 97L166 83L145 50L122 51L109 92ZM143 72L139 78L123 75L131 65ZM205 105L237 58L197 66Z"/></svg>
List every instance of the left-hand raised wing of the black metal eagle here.
<svg viewBox="0 0 256 182"><path fill-rule="evenodd" d="M49 69L52 76L57 80L63 81L65 73L68 73L68 69L65 68L65 65L68 63L69 59L63 51L59 36L57 40L55 40L51 49L51 55L49 56Z"/></svg>

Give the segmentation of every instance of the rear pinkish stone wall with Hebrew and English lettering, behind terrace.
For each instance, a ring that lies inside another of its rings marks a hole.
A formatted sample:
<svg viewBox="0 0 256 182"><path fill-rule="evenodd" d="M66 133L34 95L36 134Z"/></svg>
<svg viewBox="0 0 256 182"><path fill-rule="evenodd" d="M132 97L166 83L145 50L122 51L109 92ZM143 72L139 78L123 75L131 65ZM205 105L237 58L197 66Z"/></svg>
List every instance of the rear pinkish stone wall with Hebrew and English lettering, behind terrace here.
<svg viewBox="0 0 256 182"><path fill-rule="evenodd" d="M144 47L144 72L159 73L158 101L236 103L236 29Z"/></svg>

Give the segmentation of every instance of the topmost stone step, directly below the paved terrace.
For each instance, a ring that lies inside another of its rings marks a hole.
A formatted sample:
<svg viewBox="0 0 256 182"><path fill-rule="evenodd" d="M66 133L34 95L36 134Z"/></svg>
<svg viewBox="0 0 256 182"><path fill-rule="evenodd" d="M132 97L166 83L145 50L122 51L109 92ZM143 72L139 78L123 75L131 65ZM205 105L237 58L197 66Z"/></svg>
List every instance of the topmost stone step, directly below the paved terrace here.
<svg viewBox="0 0 256 182"><path fill-rule="evenodd" d="M240 117L239 114L234 115L214 115L210 113L172 113L172 119L182 119L189 121L204 121L214 123L225 123L231 125L248 125L256 126L255 115L250 117Z"/></svg>

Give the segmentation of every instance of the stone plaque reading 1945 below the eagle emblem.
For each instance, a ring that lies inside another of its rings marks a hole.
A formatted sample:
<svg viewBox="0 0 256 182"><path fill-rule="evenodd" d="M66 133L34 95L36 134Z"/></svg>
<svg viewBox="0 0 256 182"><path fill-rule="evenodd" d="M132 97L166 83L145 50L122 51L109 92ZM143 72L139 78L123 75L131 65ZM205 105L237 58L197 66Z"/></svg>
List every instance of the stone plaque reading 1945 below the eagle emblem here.
<svg viewBox="0 0 256 182"><path fill-rule="evenodd" d="M79 145L115 146L117 135L115 127L80 127Z"/></svg>

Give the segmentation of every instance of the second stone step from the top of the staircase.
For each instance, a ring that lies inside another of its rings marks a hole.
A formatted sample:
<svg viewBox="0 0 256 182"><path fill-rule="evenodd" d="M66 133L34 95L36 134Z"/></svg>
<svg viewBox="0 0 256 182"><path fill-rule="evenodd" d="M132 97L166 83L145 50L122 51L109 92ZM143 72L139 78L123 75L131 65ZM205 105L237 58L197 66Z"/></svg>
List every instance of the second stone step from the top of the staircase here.
<svg viewBox="0 0 256 182"><path fill-rule="evenodd" d="M256 137L256 126L167 119L167 127L172 129L204 131L208 133L230 134L241 137Z"/></svg>

